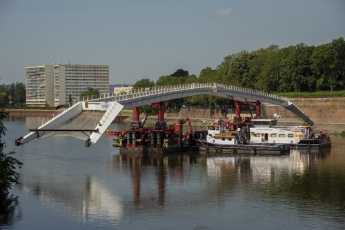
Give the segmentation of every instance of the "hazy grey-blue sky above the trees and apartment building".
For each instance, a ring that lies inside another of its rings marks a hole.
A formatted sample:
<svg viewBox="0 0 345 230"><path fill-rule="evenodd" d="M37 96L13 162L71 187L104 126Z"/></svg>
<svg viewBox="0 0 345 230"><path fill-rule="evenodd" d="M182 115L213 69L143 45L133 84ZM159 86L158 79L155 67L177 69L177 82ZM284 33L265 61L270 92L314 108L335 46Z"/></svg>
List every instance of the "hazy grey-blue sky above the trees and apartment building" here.
<svg viewBox="0 0 345 230"><path fill-rule="evenodd" d="M344 0L0 0L0 83L55 63L109 65L110 84L199 76L242 50L339 37Z"/></svg>

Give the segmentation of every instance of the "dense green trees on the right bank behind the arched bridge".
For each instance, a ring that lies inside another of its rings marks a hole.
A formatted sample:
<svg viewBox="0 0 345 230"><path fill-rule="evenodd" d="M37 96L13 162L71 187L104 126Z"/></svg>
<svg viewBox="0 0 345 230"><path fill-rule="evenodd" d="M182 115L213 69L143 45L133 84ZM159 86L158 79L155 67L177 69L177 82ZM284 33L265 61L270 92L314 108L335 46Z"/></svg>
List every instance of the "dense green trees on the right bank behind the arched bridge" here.
<svg viewBox="0 0 345 230"><path fill-rule="evenodd" d="M243 50L225 56L214 70L205 67L199 76L180 69L159 77L156 83L141 79L134 87L213 82L270 93L345 90L345 41L341 37L319 46L299 43L286 48L270 45L252 52ZM221 107L226 103L212 96L193 96L177 99L169 106Z"/></svg>

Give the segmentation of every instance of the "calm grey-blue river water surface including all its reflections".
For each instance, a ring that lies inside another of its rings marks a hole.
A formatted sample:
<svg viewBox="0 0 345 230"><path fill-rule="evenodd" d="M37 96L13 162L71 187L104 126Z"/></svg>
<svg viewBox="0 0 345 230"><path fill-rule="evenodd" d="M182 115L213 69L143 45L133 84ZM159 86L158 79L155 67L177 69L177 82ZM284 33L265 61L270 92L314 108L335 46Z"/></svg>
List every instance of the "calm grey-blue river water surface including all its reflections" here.
<svg viewBox="0 0 345 230"><path fill-rule="evenodd" d="M41 125L10 118L5 152ZM111 129L126 129L112 125ZM288 156L120 156L103 135L15 147L23 162L3 229L345 229L345 138ZM1 229L1 227L0 227Z"/></svg>

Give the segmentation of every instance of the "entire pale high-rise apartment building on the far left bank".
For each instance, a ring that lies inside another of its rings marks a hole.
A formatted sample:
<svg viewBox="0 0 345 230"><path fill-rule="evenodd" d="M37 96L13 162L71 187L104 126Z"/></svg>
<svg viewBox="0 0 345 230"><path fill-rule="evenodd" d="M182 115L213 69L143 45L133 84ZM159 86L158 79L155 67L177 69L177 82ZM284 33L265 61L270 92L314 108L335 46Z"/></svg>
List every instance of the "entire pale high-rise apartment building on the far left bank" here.
<svg viewBox="0 0 345 230"><path fill-rule="evenodd" d="M26 67L26 104L29 106L66 105L78 101L88 88L109 93L108 65L42 65Z"/></svg>

